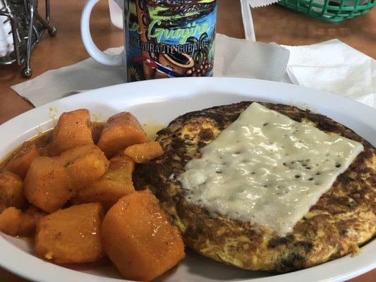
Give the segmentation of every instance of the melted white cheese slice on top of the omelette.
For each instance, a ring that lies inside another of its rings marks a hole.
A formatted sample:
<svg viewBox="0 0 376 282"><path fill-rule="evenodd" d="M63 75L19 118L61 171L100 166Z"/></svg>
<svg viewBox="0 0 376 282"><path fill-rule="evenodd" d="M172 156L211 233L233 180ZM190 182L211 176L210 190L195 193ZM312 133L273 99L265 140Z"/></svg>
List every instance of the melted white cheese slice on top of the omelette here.
<svg viewBox="0 0 376 282"><path fill-rule="evenodd" d="M255 102L177 179L188 201L212 214L286 235L362 151Z"/></svg>

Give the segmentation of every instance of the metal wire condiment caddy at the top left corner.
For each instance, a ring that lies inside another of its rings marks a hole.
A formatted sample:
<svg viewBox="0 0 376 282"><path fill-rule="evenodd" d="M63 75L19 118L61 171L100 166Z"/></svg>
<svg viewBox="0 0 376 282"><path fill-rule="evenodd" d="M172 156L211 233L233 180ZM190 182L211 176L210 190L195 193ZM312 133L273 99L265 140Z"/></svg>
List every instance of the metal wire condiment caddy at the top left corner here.
<svg viewBox="0 0 376 282"><path fill-rule="evenodd" d="M49 25L49 0L45 0L46 14L42 18L38 13L37 0L0 0L1 19L6 17L4 22L11 23L13 36L13 47L5 56L0 56L0 66L17 63L18 66L25 65L21 74L25 78L30 78L32 68L30 66L31 51L40 42L45 30L51 37L56 35L56 27Z"/></svg>

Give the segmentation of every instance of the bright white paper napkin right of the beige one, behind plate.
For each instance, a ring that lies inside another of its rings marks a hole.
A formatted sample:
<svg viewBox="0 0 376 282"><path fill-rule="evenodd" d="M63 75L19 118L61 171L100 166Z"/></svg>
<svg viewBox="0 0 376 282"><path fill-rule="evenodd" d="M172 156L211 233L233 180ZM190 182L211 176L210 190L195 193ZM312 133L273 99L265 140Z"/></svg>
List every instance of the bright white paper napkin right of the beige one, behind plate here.
<svg viewBox="0 0 376 282"><path fill-rule="evenodd" d="M296 85L376 107L376 61L338 39L290 50L287 73Z"/></svg>

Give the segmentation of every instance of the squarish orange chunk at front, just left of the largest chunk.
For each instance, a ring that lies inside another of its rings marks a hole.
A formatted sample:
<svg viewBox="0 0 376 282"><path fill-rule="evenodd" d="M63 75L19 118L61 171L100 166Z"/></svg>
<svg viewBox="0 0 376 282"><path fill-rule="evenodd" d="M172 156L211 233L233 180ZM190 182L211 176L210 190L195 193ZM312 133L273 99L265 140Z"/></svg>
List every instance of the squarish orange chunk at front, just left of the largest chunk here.
<svg viewBox="0 0 376 282"><path fill-rule="evenodd" d="M80 204L44 216L37 222L35 252L59 264L95 262L102 256L102 216L99 203Z"/></svg>

